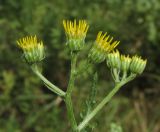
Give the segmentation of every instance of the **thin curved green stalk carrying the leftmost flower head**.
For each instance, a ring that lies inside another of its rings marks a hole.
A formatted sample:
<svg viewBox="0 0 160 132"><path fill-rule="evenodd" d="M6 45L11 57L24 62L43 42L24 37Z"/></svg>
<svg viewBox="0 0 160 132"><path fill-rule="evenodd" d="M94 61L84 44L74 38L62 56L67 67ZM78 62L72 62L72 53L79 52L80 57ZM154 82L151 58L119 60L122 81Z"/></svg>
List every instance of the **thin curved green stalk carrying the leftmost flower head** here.
<svg viewBox="0 0 160 132"><path fill-rule="evenodd" d="M48 89L50 89L52 92L58 94L61 97L65 96L65 92L62 91L60 88L57 86L53 85L50 81L48 81L39 71L38 68L35 66L31 67L33 72L44 82L44 84L47 86Z"/></svg>

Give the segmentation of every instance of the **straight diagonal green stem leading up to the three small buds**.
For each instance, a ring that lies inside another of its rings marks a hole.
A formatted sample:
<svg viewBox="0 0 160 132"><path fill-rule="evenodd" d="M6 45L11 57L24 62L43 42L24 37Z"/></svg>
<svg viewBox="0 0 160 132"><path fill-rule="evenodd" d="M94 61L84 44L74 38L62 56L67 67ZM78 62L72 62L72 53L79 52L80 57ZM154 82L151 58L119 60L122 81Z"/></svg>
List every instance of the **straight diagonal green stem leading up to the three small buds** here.
<svg viewBox="0 0 160 132"><path fill-rule="evenodd" d="M80 123L78 126L78 131L81 131L84 129L88 122L105 106L106 103L108 103L111 98L117 93L117 91L127 82L133 80L135 78L135 75L130 75L126 80L121 81L115 85L113 90L98 104L98 106L89 114L86 116L86 118Z"/></svg>

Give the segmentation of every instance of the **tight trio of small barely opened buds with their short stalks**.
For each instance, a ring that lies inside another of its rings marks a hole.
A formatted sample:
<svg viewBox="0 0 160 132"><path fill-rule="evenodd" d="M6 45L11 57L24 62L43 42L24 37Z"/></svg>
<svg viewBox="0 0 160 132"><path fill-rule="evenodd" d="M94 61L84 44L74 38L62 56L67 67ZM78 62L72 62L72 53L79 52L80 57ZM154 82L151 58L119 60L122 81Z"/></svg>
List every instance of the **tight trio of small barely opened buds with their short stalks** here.
<svg viewBox="0 0 160 132"><path fill-rule="evenodd" d="M130 74L141 74L146 67L146 63L147 60L143 60L137 55L133 57L120 55L118 50L107 55L107 65L111 69L115 82L126 79Z"/></svg>

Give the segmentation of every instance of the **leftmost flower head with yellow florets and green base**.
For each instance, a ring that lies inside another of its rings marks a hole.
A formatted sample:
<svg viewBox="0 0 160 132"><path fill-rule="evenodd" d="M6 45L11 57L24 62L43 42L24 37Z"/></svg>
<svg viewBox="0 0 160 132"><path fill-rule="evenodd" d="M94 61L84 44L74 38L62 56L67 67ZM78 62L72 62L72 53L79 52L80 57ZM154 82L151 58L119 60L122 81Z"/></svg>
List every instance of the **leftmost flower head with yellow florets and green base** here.
<svg viewBox="0 0 160 132"><path fill-rule="evenodd" d="M27 36L19 39L17 44L23 50L27 63L33 64L45 58L43 42L38 42L36 36Z"/></svg>

